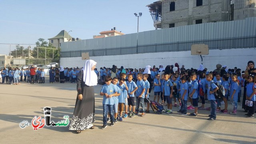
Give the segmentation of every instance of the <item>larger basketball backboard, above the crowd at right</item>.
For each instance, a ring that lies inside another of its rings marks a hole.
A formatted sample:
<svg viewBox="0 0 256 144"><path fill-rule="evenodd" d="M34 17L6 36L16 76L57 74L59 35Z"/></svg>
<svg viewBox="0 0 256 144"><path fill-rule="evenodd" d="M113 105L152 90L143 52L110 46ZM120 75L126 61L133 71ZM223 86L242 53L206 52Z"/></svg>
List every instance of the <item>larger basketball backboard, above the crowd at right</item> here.
<svg viewBox="0 0 256 144"><path fill-rule="evenodd" d="M192 44L191 55L208 55L209 47L206 44Z"/></svg>

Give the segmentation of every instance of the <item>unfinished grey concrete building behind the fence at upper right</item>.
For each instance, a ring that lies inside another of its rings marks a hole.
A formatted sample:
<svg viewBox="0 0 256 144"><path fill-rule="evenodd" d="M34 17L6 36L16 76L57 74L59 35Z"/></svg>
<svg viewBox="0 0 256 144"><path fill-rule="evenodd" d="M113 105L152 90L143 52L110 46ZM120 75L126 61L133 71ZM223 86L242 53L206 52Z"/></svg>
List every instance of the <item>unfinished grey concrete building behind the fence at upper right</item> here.
<svg viewBox="0 0 256 144"><path fill-rule="evenodd" d="M147 5L154 27L172 28L256 16L256 0L160 0Z"/></svg>

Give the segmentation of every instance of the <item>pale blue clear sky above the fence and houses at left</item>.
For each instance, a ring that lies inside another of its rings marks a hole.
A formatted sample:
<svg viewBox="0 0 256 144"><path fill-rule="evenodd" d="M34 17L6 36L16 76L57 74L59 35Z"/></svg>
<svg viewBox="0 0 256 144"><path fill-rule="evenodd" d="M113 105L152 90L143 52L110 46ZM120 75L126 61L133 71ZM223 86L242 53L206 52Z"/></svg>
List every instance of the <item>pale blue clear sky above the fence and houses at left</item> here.
<svg viewBox="0 0 256 144"><path fill-rule="evenodd" d="M61 30L73 38L91 39L111 30L124 34L154 30L146 5L157 0L0 0L0 54L8 54L10 44L25 48L39 38L56 36ZM29 44L29 45L26 45ZM33 45L31 45L33 46ZM11 50L15 49L11 45Z"/></svg>

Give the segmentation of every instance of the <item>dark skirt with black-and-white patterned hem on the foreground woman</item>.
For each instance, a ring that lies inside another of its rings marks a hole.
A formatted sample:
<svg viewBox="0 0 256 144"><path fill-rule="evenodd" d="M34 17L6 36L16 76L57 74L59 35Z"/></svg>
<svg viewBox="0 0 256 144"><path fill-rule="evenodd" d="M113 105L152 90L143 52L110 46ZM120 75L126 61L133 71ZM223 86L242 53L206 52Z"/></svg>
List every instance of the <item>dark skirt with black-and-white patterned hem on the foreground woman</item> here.
<svg viewBox="0 0 256 144"><path fill-rule="evenodd" d="M72 120L70 122L69 130L86 130L93 126L95 122L95 101L94 101L94 87L82 87L83 99L76 98L76 106Z"/></svg>

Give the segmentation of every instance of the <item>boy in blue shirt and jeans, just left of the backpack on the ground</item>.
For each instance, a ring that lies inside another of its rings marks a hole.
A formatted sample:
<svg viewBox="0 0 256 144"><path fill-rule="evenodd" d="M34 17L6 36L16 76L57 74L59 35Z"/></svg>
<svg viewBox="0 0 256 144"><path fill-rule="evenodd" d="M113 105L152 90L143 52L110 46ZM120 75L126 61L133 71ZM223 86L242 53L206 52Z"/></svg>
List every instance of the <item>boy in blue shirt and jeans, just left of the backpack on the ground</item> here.
<svg viewBox="0 0 256 144"><path fill-rule="evenodd" d="M145 104L144 104L144 98L145 98L145 82L142 80L143 74L138 73L137 74L137 86L138 90L136 90L136 112L135 114L137 115L139 112L139 107L141 105L142 107L142 114L141 116L145 116Z"/></svg>

